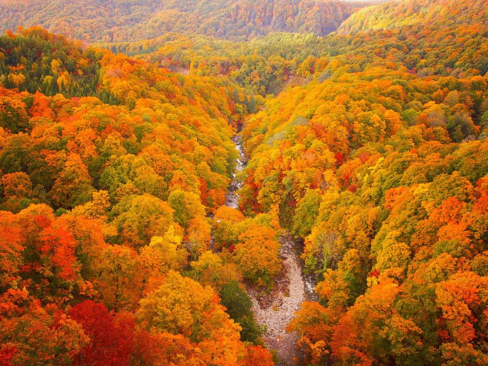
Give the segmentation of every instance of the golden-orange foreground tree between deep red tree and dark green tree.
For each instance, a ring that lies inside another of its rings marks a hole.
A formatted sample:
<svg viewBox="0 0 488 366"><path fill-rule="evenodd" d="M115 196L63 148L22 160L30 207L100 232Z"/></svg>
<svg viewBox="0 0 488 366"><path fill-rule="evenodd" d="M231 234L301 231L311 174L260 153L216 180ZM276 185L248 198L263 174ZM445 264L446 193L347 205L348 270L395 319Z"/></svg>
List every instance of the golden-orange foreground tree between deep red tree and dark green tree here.
<svg viewBox="0 0 488 366"><path fill-rule="evenodd" d="M141 299L136 318L146 330L181 334L197 343L204 363L236 364L243 353L240 327L219 300L210 287L170 271L158 289Z"/></svg>

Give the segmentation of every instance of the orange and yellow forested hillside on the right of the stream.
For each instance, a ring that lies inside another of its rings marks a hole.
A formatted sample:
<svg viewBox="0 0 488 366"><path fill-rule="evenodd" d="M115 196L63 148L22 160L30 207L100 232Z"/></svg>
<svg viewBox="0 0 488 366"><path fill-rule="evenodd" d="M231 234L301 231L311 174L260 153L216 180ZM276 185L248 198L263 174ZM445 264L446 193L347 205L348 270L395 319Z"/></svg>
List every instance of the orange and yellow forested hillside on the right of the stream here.
<svg viewBox="0 0 488 366"><path fill-rule="evenodd" d="M488 364L488 27L465 3L325 37L246 120L240 208L304 239L319 300L287 329L312 365Z"/></svg>

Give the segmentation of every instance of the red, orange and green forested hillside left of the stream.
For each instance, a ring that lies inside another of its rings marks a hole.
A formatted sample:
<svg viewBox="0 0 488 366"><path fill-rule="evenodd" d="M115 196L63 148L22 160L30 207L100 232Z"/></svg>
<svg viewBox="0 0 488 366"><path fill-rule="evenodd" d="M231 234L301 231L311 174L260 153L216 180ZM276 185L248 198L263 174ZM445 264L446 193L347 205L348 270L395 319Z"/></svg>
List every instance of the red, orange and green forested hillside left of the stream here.
<svg viewBox="0 0 488 366"><path fill-rule="evenodd" d="M274 364L207 217L251 101L40 28L0 37L0 363Z"/></svg>

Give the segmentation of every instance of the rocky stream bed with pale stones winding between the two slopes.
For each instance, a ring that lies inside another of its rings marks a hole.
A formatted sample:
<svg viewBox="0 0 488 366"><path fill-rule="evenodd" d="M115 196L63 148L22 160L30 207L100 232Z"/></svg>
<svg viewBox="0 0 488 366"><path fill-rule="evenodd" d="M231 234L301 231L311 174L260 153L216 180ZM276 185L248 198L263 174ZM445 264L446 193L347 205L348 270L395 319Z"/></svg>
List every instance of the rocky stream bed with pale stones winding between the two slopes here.
<svg viewBox="0 0 488 366"><path fill-rule="evenodd" d="M226 205L238 208L237 191L242 187L238 173L245 167L245 152L240 144L240 136L232 138L235 148L239 151L233 179L226 195ZM283 270L277 277L275 286L269 293L262 293L253 286L247 290L253 301L253 312L256 321L265 325L266 332L263 340L270 349L277 351L281 365L296 365L301 363L302 354L296 349L298 340L296 333L287 333L286 326L300 309L303 301L316 300L314 293L315 281L303 274L303 260L300 255L303 245L293 239L288 233L280 237L280 257Z"/></svg>

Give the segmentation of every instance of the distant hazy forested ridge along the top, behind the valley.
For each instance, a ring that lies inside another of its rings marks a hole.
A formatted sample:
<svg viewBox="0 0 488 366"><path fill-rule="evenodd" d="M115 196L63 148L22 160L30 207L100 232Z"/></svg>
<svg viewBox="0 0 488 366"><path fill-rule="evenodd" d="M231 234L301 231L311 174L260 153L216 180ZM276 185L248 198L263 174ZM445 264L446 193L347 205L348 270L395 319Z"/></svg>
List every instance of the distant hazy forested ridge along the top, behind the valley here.
<svg viewBox="0 0 488 366"><path fill-rule="evenodd" d="M135 41L167 32L231 40L271 32L323 36L362 6L335 0L0 0L0 32L40 25L87 42Z"/></svg>

